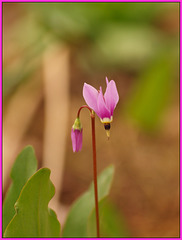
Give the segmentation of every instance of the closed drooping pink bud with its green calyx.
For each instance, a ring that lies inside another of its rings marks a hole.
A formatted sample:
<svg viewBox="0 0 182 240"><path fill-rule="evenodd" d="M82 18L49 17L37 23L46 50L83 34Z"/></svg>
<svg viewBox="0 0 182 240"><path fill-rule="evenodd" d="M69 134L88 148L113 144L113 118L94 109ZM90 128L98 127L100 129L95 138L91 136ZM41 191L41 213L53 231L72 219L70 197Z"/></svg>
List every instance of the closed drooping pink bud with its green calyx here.
<svg viewBox="0 0 182 240"><path fill-rule="evenodd" d="M76 118L71 129L71 140L73 152L79 152L82 149L82 126L79 118Z"/></svg>

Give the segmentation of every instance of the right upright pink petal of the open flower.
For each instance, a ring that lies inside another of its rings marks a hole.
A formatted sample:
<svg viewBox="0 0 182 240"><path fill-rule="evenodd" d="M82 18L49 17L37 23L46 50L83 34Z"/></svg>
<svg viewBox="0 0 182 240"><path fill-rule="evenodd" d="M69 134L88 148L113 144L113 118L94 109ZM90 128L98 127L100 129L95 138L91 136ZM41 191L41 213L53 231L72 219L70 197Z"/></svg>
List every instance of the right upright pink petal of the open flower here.
<svg viewBox="0 0 182 240"><path fill-rule="evenodd" d="M105 99L107 108L111 112L111 116L113 116L113 111L119 101L119 94L118 94L114 80L111 80L107 84L106 92L104 94L104 99Z"/></svg>

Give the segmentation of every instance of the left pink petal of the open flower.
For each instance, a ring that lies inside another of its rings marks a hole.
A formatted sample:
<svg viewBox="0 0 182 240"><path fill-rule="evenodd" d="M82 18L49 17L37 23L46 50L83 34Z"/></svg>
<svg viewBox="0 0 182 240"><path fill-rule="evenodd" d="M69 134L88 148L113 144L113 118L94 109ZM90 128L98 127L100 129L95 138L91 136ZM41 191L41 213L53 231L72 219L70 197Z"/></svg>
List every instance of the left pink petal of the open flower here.
<svg viewBox="0 0 182 240"><path fill-rule="evenodd" d="M91 85L84 83L83 86L83 97L87 105L92 108L96 113L98 112L97 108L97 98L98 98L98 91L92 87Z"/></svg>

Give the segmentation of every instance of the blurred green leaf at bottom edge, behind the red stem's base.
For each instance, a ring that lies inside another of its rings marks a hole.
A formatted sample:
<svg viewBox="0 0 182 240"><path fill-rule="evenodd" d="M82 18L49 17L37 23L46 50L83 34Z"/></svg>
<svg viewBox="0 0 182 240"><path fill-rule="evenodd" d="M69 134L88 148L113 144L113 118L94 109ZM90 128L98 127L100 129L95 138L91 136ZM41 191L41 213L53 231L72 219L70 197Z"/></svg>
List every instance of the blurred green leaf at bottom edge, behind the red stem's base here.
<svg viewBox="0 0 182 240"><path fill-rule="evenodd" d="M123 216L113 204L103 199L99 203L100 236L101 237L129 237ZM88 219L88 236L96 236L95 208Z"/></svg>

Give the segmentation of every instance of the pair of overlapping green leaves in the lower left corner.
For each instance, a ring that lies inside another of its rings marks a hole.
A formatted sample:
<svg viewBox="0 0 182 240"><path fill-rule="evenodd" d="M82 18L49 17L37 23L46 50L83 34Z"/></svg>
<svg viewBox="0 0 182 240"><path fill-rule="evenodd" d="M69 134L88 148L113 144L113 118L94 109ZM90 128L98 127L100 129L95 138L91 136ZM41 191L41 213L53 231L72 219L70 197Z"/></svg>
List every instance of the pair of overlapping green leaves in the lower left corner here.
<svg viewBox="0 0 182 240"><path fill-rule="evenodd" d="M11 170L12 184L3 202L3 234L5 237L59 237L60 224L47 205L54 195L50 170L37 171L32 146L17 156ZM41 226L41 228L40 228Z"/></svg>

